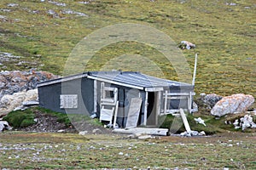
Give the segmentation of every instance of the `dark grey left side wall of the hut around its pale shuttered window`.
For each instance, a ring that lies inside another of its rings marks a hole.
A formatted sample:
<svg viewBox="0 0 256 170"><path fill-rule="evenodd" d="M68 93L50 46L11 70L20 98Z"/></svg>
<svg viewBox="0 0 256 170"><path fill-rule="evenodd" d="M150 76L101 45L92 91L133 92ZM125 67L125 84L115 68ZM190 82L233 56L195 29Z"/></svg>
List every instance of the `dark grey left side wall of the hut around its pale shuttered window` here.
<svg viewBox="0 0 256 170"><path fill-rule="evenodd" d="M61 109L61 94L78 94L77 109ZM52 111L90 115L93 111L93 80L74 79L38 88L39 105Z"/></svg>

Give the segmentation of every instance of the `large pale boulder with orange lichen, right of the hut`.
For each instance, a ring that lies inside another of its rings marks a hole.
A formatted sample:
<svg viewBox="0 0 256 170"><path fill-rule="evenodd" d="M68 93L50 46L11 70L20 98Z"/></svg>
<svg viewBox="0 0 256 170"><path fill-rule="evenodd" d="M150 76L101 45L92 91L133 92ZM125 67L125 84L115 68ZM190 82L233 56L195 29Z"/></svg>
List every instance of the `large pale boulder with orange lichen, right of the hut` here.
<svg viewBox="0 0 256 170"><path fill-rule="evenodd" d="M242 113L253 104L252 95L233 94L220 99L212 108L212 116L224 116L229 113Z"/></svg>

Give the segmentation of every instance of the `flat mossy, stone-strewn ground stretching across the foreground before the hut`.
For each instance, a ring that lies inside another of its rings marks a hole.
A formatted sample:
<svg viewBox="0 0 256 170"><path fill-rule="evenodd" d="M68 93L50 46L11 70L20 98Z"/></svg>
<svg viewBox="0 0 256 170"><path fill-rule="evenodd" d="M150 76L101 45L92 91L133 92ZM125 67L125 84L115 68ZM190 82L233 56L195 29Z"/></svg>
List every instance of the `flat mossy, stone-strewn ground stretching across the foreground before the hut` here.
<svg viewBox="0 0 256 170"><path fill-rule="evenodd" d="M255 136L222 133L211 137L127 139L119 135L0 133L1 168L254 169ZM26 151L23 151L26 150Z"/></svg>

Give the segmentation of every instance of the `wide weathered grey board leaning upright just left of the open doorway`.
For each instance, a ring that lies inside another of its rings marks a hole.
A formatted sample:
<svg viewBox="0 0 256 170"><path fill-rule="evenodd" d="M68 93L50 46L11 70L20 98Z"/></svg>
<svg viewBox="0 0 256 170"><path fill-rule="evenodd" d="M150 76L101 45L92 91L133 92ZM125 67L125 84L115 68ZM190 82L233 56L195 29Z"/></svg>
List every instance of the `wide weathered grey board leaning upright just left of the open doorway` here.
<svg viewBox="0 0 256 170"><path fill-rule="evenodd" d="M129 106L129 111L127 115L127 122L125 127L137 127L138 117L141 111L143 99L141 98L131 98L131 103Z"/></svg>

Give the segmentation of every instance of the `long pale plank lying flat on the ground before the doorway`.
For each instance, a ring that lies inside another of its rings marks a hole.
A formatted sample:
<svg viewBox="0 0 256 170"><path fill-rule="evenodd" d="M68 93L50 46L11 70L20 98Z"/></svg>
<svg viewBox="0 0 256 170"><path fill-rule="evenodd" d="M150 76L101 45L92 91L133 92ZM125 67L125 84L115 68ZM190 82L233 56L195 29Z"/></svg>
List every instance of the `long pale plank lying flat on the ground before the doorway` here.
<svg viewBox="0 0 256 170"><path fill-rule="evenodd" d="M128 134L150 134L166 136L168 135L167 128L145 128L145 127L133 127L133 128L116 128L113 129L113 133L128 133Z"/></svg>

